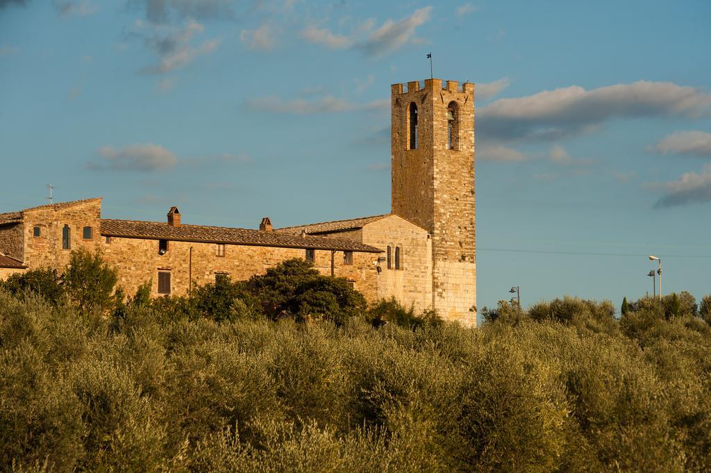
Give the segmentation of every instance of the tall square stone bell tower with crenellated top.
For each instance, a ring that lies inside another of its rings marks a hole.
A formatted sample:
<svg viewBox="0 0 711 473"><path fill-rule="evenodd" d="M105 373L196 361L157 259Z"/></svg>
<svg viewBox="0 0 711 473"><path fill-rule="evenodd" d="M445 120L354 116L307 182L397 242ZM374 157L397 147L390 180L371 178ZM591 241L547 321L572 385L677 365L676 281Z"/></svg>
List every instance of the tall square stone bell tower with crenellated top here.
<svg viewBox="0 0 711 473"><path fill-rule="evenodd" d="M432 307L474 325L474 84L395 84L391 106L392 212L432 235Z"/></svg>

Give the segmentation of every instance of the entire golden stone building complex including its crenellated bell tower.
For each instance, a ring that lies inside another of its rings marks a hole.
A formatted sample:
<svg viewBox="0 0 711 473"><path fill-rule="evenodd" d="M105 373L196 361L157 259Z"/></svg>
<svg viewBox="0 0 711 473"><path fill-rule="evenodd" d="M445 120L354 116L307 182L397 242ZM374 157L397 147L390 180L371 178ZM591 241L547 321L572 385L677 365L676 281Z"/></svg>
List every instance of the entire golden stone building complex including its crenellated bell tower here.
<svg viewBox="0 0 711 473"><path fill-rule="evenodd" d="M0 214L0 279L100 249L127 293L150 280L156 296L186 294L303 257L370 301L396 297L474 325L474 84L395 84L391 107L391 213L279 229L264 218L250 230L187 225L177 207L145 222L102 218L100 198L56 203Z"/></svg>

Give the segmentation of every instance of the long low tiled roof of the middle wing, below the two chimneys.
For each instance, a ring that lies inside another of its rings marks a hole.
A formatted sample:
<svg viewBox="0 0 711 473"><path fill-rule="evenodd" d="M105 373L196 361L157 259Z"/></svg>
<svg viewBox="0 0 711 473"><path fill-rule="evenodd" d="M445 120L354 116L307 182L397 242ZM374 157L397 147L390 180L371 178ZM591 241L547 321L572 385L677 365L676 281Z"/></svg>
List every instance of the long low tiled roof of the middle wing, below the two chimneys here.
<svg viewBox="0 0 711 473"><path fill-rule="evenodd" d="M195 241L226 243L230 245L274 246L281 248L309 248L313 250L361 251L380 253L382 250L346 238L301 237L288 233L265 232L246 228L212 227L207 225L180 225L143 222L138 220L113 220L102 218L101 234L105 236L146 238L149 240Z"/></svg>

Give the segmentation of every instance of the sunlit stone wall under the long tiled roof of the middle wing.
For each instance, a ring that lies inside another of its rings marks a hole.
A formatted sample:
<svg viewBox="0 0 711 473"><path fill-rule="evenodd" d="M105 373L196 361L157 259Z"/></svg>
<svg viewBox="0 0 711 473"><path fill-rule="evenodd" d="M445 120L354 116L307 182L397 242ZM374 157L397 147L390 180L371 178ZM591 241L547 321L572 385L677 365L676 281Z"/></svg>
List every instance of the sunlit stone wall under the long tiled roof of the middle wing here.
<svg viewBox="0 0 711 473"><path fill-rule="evenodd" d="M158 294L158 272L171 272L171 294L186 294L190 273L190 248L193 248L193 287L215 282L215 274L226 273L232 280L247 280L261 275L267 268L292 258L304 258L306 250L247 245L225 245L225 256L217 256L215 243L169 241L168 251L158 254L159 240L112 237L102 243L105 259L118 270L118 285L127 294L134 294L139 285L152 280L153 294ZM375 265L377 253L353 253L353 265L343 264L343 252L333 257L336 277L354 282L355 289L373 299L377 292ZM331 251L316 250L316 269L331 275Z"/></svg>

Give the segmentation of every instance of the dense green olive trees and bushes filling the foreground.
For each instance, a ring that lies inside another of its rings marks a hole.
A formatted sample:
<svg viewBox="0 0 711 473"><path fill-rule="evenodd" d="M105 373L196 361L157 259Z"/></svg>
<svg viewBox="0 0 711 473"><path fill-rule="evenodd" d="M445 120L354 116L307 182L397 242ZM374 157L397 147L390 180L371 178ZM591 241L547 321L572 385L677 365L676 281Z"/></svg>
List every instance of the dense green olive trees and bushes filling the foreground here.
<svg viewBox="0 0 711 473"><path fill-rule="evenodd" d="M303 276L94 317L0 288L0 469L711 470L707 302L501 303L471 330Z"/></svg>

